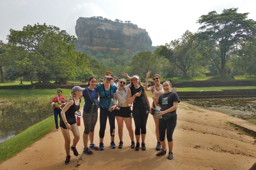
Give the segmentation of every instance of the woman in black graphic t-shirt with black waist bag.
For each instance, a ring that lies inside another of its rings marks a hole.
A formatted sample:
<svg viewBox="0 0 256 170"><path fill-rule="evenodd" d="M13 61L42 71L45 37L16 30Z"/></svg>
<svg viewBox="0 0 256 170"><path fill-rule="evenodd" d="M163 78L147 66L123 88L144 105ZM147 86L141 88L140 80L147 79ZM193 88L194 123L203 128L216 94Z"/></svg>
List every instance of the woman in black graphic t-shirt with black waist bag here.
<svg viewBox="0 0 256 170"><path fill-rule="evenodd" d="M179 96L177 93L170 90L172 84L166 80L163 82L164 94L159 96L158 102L156 102L155 96L153 96L154 103L157 103L161 107L161 111L158 112L158 116L162 115L162 119L159 118L159 139L162 146L162 151L158 152L156 156L166 154L165 147L165 132L168 141L169 153L168 159L173 159L173 132L177 123L176 109L178 108ZM156 106L155 106L156 107Z"/></svg>

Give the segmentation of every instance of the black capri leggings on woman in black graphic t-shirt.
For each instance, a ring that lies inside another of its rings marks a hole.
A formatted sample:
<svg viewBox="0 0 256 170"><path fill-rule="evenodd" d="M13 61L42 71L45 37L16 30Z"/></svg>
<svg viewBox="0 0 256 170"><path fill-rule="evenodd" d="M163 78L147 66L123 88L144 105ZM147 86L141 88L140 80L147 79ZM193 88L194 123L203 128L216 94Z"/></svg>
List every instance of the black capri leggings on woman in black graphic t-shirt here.
<svg viewBox="0 0 256 170"><path fill-rule="evenodd" d="M165 131L167 136L167 141L171 142L173 141L173 132L177 124L177 114L172 113L172 117L170 119L164 120L159 119L159 139L160 141L165 140Z"/></svg>

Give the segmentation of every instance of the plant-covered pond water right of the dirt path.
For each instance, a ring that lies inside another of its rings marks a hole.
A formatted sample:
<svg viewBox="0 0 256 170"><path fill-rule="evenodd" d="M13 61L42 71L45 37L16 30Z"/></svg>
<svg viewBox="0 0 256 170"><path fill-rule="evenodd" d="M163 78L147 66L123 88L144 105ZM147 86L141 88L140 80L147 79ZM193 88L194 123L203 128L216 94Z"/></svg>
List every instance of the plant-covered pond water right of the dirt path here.
<svg viewBox="0 0 256 170"><path fill-rule="evenodd" d="M242 119L256 120L256 98L183 99L196 106L206 107Z"/></svg>

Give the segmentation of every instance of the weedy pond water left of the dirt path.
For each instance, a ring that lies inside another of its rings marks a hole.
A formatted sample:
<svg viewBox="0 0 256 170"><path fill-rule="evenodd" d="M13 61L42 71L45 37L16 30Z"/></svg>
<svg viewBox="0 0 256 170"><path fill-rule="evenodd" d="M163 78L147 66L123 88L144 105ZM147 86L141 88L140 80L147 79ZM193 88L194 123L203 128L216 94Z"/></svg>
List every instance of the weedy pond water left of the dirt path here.
<svg viewBox="0 0 256 170"><path fill-rule="evenodd" d="M31 107L0 107L0 143L53 115L49 104Z"/></svg>

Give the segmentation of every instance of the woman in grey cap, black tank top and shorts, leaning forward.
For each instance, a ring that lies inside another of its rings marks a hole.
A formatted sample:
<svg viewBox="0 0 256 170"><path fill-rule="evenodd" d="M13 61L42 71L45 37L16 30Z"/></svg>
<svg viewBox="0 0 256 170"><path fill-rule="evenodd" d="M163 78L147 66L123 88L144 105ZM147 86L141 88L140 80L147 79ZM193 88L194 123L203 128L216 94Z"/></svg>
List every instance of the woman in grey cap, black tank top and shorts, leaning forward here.
<svg viewBox="0 0 256 170"><path fill-rule="evenodd" d="M80 86L74 86L69 95L70 97L67 101L67 104L61 110L60 128L65 139L65 151L67 154L65 164L70 163L70 150L73 151L75 156L78 156L76 145L77 145L77 142L79 141L80 135L77 127L75 112L77 111L78 113L81 114L81 111L79 110L80 102L81 102L80 98L83 95L84 89L85 88L82 88ZM70 147L69 130L71 130L71 132L74 135L74 139L71 147Z"/></svg>

